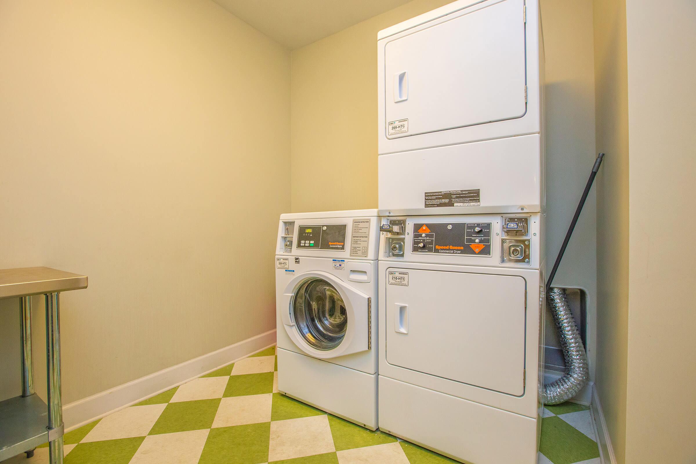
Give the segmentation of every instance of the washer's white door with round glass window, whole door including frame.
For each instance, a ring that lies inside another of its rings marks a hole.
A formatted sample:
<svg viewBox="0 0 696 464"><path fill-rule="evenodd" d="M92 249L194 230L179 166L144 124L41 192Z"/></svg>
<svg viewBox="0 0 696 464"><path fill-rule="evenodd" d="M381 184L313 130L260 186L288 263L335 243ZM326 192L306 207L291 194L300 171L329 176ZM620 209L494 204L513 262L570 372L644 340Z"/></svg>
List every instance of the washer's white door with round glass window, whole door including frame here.
<svg viewBox="0 0 696 464"><path fill-rule="evenodd" d="M281 316L287 335L308 355L335 358L369 349L372 302L361 291L315 271L290 281L283 298Z"/></svg>

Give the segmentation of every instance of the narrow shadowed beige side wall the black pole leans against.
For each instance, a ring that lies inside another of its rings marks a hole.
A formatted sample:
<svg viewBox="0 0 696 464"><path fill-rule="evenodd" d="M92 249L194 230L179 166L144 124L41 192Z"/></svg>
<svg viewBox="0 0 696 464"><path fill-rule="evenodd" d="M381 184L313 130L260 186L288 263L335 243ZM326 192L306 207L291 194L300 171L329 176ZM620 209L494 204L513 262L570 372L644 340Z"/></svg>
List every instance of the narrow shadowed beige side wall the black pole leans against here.
<svg viewBox="0 0 696 464"><path fill-rule="evenodd" d="M625 0L594 0L597 189L596 388L619 464L626 461L628 83ZM665 461L667 462L667 461Z"/></svg>

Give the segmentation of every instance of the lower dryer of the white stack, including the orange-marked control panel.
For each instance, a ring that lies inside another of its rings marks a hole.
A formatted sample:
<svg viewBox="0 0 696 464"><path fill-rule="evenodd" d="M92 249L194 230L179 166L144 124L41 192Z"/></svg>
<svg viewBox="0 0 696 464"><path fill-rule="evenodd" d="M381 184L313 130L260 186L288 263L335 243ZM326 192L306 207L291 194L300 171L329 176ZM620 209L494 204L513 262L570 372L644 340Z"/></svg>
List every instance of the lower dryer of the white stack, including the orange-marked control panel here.
<svg viewBox="0 0 696 464"><path fill-rule="evenodd" d="M473 464L535 464L539 213L383 218L379 426Z"/></svg>

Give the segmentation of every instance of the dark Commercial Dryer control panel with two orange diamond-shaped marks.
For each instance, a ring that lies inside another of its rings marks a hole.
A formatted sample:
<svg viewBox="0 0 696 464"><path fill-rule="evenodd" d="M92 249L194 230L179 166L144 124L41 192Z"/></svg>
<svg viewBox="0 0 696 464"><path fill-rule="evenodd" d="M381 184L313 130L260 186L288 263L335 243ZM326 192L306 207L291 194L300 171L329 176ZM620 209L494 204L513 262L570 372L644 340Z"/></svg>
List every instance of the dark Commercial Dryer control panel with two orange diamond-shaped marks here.
<svg viewBox="0 0 696 464"><path fill-rule="evenodd" d="M491 256L492 223L413 223L412 253Z"/></svg>

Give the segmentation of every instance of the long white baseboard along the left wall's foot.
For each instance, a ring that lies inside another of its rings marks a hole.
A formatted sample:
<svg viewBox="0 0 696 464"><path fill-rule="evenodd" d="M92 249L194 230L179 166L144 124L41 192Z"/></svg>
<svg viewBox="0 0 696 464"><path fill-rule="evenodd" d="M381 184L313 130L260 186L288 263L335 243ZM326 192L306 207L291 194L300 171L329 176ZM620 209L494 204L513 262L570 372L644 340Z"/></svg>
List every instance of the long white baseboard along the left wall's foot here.
<svg viewBox="0 0 696 464"><path fill-rule="evenodd" d="M63 406L65 431L77 429L187 383L276 343L276 329Z"/></svg>

